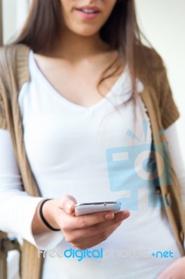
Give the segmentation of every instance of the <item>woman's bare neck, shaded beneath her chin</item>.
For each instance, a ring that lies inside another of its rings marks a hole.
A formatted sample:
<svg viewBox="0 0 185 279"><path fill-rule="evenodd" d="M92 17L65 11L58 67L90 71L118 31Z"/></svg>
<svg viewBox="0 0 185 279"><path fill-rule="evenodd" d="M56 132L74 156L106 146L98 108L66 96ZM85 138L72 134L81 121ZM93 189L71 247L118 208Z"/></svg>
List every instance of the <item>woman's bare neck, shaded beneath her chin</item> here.
<svg viewBox="0 0 185 279"><path fill-rule="evenodd" d="M65 29L52 55L75 62L110 50L111 47L102 41L99 33L93 36L80 36Z"/></svg>

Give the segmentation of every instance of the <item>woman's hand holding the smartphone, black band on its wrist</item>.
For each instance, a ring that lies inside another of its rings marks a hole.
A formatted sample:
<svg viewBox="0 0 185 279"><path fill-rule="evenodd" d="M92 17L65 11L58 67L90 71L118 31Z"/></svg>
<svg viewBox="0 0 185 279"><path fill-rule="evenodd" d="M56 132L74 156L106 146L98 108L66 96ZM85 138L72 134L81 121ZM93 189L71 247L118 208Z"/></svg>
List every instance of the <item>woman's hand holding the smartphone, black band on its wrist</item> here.
<svg viewBox="0 0 185 279"><path fill-rule="evenodd" d="M75 204L76 199L69 195L51 199L43 205L42 213L49 225L61 229L65 240L81 250L106 240L130 215L129 211L120 211L115 215L111 211L104 211L74 216Z"/></svg>

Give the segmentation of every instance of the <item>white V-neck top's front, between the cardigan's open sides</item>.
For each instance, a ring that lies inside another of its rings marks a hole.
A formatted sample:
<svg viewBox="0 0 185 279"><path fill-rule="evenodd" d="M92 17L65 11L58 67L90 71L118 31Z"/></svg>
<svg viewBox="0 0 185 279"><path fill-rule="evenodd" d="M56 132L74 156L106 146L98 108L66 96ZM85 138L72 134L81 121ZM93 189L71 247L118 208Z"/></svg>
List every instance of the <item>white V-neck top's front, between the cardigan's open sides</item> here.
<svg viewBox="0 0 185 279"><path fill-rule="evenodd" d="M67 194L79 203L120 200L122 209L131 212L106 241L90 248L102 251L100 258L57 257L54 250L68 250L66 255L77 251L61 232L35 237L40 250L51 252L45 257L42 279L156 278L181 255L159 201L148 205L155 195L152 188L141 183L134 197L133 188L129 189L128 181L136 181L136 172L141 174L143 168L145 181L151 180L146 171L151 162L140 157L134 169L135 158L129 154L133 146L139 152L152 141L150 119L139 96L143 84L136 81L138 96L131 98L126 67L106 98L83 107L51 86L32 51L29 70L31 81L19 92L19 107L26 154L42 197ZM172 254L155 257L159 250Z"/></svg>

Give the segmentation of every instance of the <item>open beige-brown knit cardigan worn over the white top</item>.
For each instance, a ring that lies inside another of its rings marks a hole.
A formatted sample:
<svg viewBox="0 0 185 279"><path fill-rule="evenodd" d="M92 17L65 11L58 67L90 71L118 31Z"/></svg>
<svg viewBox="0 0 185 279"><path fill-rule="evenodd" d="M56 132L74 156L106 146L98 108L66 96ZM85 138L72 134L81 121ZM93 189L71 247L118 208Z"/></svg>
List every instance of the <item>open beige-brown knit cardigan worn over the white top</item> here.
<svg viewBox="0 0 185 279"><path fill-rule="evenodd" d="M0 128L10 131L24 190L29 195L36 197L40 195L40 192L26 157L22 119L18 105L19 90L22 84L28 82L30 78L28 67L29 50L29 47L25 45L2 47L0 50ZM152 135L156 135L162 128L170 126L179 117L179 112L172 99L166 70L161 70L163 68L161 58L154 54L152 50L147 49L147 52L148 58L159 68L155 74L155 88L145 83L145 77L140 73L138 73L138 77L145 84L141 97L150 116ZM163 134L159 137L154 137L153 140L154 143L165 141ZM157 157L156 164L160 172L162 166ZM156 195L162 195L163 206L172 227L172 232L179 250L184 256L185 212L179 183L173 168L172 185L156 187ZM172 200L171 205L170 200ZM42 276L42 260L38 258L37 248L24 241L22 247L22 279L40 279Z"/></svg>

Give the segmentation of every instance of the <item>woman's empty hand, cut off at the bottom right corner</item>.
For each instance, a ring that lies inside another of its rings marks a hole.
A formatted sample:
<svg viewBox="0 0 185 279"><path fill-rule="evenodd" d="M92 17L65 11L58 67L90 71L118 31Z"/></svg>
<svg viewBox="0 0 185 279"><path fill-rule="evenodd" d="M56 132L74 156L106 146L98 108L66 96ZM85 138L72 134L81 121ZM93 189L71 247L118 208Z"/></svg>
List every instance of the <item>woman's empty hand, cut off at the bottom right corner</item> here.
<svg viewBox="0 0 185 279"><path fill-rule="evenodd" d="M185 278L185 257L177 259L173 264L168 266L157 279L184 279Z"/></svg>

